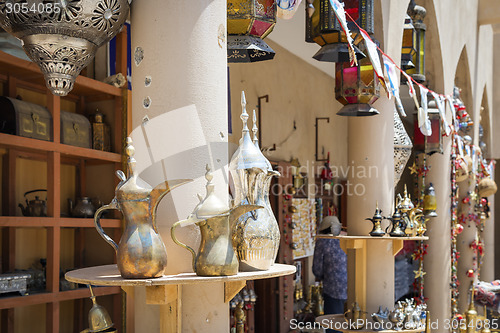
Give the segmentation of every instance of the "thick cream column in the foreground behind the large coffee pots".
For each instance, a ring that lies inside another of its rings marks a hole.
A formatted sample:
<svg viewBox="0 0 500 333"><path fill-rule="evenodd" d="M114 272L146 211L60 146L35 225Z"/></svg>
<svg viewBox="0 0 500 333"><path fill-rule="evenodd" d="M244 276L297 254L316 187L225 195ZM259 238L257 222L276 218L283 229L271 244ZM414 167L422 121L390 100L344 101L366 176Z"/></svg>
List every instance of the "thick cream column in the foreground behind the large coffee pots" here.
<svg viewBox="0 0 500 333"><path fill-rule="evenodd" d="M132 137L141 177L195 182L172 191L157 212L168 252L167 274L192 272L191 255L173 243L170 227L205 195L205 165L216 193L228 198L226 1L138 0L132 3ZM146 117L146 118L145 118ZM178 228L179 240L198 249L195 226ZM159 332L160 311L135 290L135 331ZM182 331L228 332L223 283L184 285Z"/></svg>

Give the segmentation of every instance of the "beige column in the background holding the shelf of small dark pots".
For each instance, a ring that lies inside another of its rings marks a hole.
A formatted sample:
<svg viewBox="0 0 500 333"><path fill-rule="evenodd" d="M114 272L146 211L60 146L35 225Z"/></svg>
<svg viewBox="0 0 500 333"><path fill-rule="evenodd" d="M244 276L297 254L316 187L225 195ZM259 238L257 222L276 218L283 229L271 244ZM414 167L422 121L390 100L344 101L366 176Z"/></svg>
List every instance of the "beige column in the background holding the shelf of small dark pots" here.
<svg viewBox="0 0 500 333"><path fill-rule="evenodd" d="M381 96L373 107L380 114L373 117L349 119L348 134L348 192L347 233L351 236L367 236L371 223L365 218L373 216L378 201L383 215L392 212L394 198L394 103ZM349 305L355 300L363 310L373 313L381 305L394 306L394 256L392 242L388 240L366 241L366 265L359 267L358 255L349 255ZM359 251L359 250L357 250ZM354 266L358 266L354 270ZM356 279L366 274L363 290L355 290L352 274ZM360 295L366 292L366 300ZM355 299L355 296L356 298ZM365 303L365 304L363 304Z"/></svg>

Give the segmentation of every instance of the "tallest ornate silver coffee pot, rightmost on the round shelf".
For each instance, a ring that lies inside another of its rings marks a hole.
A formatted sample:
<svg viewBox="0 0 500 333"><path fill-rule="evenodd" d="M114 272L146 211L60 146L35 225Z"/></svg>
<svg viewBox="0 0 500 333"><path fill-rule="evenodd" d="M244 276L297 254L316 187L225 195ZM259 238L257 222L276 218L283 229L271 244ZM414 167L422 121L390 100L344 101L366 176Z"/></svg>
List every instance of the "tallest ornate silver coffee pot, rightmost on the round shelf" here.
<svg viewBox="0 0 500 333"><path fill-rule="evenodd" d="M250 138L244 93L241 104L243 135L229 164L234 183L233 205L252 204L264 208L247 213L236 221L233 226L233 245L240 262L240 271L267 270L274 264L280 243L278 222L269 202L272 177L280 174L272 169L271 163L260 152L255 113L254 141Z"/></svg>

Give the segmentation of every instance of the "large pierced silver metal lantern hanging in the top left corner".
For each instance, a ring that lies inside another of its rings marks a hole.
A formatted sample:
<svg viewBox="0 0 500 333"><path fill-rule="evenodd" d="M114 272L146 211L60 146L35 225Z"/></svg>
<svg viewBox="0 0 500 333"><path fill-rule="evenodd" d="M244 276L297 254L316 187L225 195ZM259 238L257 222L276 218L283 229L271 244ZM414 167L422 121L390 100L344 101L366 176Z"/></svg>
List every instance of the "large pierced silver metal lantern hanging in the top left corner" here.
<svg viewBox="0 0 500 333"><path fill-rule="evenodd" d="M127 0L2 0L0 27L23 41L54 95L66 96L128 17Z"/></svg>

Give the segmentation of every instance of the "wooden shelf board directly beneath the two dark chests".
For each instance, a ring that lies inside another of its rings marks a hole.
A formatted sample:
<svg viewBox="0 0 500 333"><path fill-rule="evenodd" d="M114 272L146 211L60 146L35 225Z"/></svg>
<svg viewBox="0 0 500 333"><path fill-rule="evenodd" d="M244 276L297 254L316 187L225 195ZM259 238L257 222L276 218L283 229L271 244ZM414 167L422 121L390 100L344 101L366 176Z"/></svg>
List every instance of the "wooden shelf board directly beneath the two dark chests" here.
<svg viewBox="0 0 500 333"><path fill-rule="evenodd" d="M43 141L31 138L25 138L18 135L0 133L0 146L5 148L14 148L20 151L34 152L57 152L63 156L82 158L94 163L120 163L121 155L107 151L88 149Z"/></svg>

